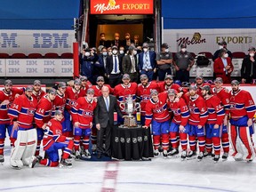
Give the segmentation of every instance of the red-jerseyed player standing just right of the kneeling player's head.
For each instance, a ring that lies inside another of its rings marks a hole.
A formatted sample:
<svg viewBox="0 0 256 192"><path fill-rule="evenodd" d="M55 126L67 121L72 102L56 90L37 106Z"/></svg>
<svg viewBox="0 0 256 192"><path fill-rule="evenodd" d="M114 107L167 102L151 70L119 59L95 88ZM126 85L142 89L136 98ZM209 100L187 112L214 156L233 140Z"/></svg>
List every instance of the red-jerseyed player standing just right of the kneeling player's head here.
<svg viewBox="0 0 256 192"><path fill-rule="evenodd" d="M67 102L64 111L65 126L63 127L63 135L73 137L73 124L71 119L71 108L79 97L84 97L86 92L81 90L81 81L76 79L72 87L68 86L66 90Z"/></svg>

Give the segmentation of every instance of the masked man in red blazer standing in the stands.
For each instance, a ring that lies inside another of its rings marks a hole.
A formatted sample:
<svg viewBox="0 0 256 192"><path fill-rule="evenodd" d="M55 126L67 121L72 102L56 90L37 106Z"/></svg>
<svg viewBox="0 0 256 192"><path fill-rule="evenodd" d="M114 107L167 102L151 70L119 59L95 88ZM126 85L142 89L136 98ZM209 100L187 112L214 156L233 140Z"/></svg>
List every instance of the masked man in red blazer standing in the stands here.
<svg viewBox="0 0 256 192"><path fill-rule="evenodd" d="M231 73L234 70L231 58L228 57L226 49L220 50L220 56L214 60L213 72L216 77L221 77L224 84L231 83Z"/></svg>

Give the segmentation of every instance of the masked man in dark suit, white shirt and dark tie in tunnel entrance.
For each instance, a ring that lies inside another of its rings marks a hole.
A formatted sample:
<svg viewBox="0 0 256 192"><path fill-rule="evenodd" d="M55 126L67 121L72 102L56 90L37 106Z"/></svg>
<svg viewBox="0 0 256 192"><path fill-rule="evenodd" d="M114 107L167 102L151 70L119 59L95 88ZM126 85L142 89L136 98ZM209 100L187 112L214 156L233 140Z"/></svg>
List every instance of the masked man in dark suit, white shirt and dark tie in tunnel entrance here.
<svg viewBox="0 0 256 192"><path fill-rule="evenodd" d="M118 48L112 47L112 55L107 58L106 73L108 76L108 84L114 88L117 84L121 83L122 78L122 60L117 54Z"/></svg>

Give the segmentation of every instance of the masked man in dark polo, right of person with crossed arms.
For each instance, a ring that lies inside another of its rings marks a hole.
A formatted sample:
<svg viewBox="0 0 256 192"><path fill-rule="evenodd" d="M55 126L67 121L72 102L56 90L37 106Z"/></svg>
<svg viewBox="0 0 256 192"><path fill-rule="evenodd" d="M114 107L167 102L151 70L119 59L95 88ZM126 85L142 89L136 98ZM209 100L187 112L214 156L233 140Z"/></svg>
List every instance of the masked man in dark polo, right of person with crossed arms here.
<svg viewBox="0 0 256 192"><path fill-rule="evenodd" d="M174 56L173 65L176 69L176 79L181 82L189 82L189 71L195 60L190 52L187 52L187 45L180 45L180 52Z"/></svg>

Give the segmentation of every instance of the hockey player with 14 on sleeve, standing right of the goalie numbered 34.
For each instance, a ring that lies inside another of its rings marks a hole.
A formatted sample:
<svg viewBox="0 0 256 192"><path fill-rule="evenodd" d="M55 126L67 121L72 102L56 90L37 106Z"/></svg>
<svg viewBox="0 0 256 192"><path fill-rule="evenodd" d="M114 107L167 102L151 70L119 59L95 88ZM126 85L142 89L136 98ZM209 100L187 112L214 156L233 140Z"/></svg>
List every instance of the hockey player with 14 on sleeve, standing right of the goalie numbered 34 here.
<svg viewBox="0 0 256 192"><path fill-rule="evenodd" d="M37 146L36 146L36 156L39 156L40 145L44 136L44 129L46 124L50 121L52 116L53 100L56 97L56 90L50 89L47 94L44 95L41 100L39 100L36 107L35 123L37 132Z"/></svg>

